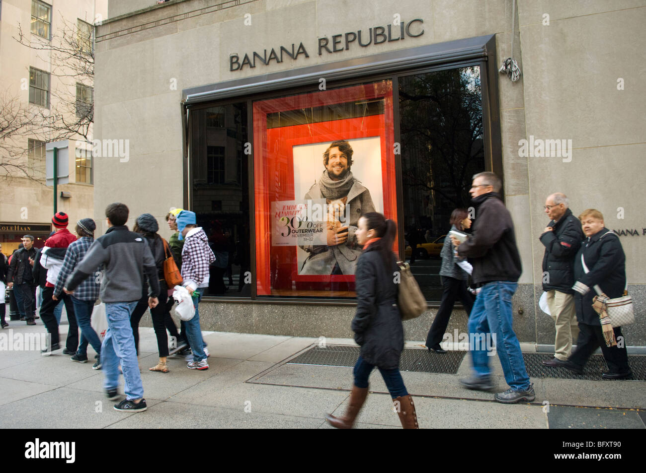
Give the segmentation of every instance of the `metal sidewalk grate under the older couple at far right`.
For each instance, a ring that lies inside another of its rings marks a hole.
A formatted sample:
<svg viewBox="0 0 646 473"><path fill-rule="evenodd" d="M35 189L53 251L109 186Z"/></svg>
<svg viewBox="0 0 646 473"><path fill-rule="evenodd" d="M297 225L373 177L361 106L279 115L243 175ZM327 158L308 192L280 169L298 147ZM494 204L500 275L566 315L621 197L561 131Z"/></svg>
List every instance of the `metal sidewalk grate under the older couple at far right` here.
<svg viewBox="0 0 646 473"><path fill-rule="evenodd" d="M525 367L530 377L556 377L560 379L589 379L590 381L600 381L603 379L601 373L608 372L608 365L603 359L603 355L593 355L583 367L583 374L574 374L567 368L546 367L541 363L543 360L552 358L552 354L545 353L523 353L525 358ZM646 356L630 355L628 364L632 370L632 379L646 381Z"/></svg>

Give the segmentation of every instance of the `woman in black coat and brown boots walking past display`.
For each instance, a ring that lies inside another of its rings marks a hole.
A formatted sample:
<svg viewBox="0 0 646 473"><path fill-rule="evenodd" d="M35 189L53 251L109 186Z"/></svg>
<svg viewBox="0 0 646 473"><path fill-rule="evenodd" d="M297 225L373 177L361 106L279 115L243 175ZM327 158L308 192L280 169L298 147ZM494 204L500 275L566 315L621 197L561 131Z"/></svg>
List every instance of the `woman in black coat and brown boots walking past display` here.
<svg viewBox="0 0 646 473"><path fill-rule="evenodd" d="M357 226L355 236L364 251L355 270L357 312L352 330L361 350L354 368L355 380L346 414L340 418L328 414L327 420L333 427L352 427L368 396L368 377L377 367L393 398L402 427L419 428L413 399L399 372L404 328L397 308L395 284L399 267L391 250L397 225L384 219L382 214L370 212L360 217Z"/></svg>

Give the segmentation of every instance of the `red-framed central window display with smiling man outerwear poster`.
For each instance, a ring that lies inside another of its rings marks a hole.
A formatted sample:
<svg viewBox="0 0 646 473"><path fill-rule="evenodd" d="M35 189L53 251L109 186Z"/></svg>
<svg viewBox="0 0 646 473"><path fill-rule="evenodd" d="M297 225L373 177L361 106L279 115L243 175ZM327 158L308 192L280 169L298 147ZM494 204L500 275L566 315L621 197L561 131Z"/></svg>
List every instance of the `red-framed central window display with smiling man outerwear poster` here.
<svg viewBox="0 0 646 473"><path fill-rule="evenodd" d="M359 217L397 219L391 81L256 101L253 132L258 296L353 297Z"/></svg>

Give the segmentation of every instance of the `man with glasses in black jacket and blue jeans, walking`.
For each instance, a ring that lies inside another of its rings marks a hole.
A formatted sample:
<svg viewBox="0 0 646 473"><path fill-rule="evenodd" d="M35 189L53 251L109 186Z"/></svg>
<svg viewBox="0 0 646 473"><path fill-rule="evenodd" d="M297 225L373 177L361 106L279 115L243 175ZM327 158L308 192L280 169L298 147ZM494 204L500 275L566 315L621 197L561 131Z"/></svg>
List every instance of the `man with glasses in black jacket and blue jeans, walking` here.
<svg viewBox="0 0 646 473"><path fill-rule="evenodd" d="M494 339L509 389L496 394L500 403L534 401L536 395L525 369L520 343L512 327L512 296L521 275L521 258L516 247L514 222L498 192L501 180L493 172L474 176L469 191L474 204L473 235L464 243L451 237L459 256L466 256L474 267L472 279L480 287L468 321L469 345L474 376L461 379L468 389L491 390L487 349ZM483 347L484 339L489 341Z"/></svg>

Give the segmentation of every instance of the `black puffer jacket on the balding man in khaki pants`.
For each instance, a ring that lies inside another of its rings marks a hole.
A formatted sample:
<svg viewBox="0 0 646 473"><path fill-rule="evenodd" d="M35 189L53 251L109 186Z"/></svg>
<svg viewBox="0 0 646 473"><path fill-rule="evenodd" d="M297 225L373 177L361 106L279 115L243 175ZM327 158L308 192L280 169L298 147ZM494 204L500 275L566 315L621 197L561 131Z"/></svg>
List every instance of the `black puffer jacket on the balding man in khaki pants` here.
<svg viewBox="0 0 646 473"><path fill-rule="evenodd" d="M545 245L543 290L556 289L559 292L574 294L574 290L572 290L574 257L581 248L581 240L585 238L583 230L581 230L581 222L572 215L572 210L568 208L553 228L554 231L545 232L539 238L541 243Z"/></svg>

